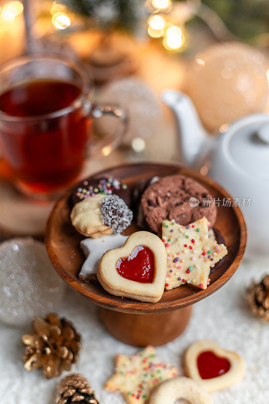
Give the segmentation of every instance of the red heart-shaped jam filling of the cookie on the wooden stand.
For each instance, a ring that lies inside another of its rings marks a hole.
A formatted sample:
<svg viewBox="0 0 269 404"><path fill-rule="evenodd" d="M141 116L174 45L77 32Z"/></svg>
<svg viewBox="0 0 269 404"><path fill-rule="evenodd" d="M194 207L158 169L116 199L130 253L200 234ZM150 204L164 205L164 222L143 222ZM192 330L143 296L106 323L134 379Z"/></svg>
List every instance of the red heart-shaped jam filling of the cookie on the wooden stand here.
<svg viewBox="0 0 269 404"><path fill-rule="evenodd" d="M116 264L117 272L131 281L152 283L155 275L153 252L143 245L134 248L127 258L120 258Z"/></svg>

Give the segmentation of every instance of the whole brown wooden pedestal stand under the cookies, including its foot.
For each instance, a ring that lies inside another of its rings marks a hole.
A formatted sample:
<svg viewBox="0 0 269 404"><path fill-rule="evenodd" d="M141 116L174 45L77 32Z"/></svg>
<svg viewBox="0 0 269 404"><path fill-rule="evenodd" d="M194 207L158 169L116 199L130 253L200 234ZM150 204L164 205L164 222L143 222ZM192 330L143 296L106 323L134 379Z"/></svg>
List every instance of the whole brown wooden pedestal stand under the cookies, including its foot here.
<svg viewBox="0 0 269 404"><path fill-rule="evenodd" d="M130 189L140 179L181 173L204 185L213 197L229 198L230 195L218 184L191 170L178 166L134 164L120 166L96 174L118 177ZM71 225L66 194L55 205L46 228L46 246L50 260L60 276L77 292L100 306L100 317L106 329L119 340L135 346L162 345L176 338L185 329L191 315L191 306L223 286L240 264L245 244L246 226L238 207L219 207L215 227L220 230L228 248L228 255L220 267L210 275L206 290L182 285L166 290L157 303L143 303L107 293L98 282L83 282L78 273L85 260L79 246L84 238ZM138 228L132 224L125 232L132 234Z"/></svg>

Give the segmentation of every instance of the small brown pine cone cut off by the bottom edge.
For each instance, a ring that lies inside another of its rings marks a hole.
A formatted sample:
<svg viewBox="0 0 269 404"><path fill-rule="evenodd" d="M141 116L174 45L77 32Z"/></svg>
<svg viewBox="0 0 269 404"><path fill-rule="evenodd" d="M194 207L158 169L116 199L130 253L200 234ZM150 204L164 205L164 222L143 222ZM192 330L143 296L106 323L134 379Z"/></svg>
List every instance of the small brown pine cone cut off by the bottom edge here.
<svg viewBox="0 0 269 404"><path fill-rule="evenodd" d="M99 404L94 390L83 375L73 373L64 377L57 386L56 404Z"/></svg>

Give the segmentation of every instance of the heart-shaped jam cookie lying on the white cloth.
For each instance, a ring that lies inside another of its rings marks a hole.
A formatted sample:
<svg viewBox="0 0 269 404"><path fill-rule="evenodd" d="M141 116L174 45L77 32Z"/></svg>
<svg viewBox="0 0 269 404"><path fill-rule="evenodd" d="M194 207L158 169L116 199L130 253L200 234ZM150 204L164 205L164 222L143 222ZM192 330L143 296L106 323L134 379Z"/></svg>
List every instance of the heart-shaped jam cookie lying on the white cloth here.
<svg viewBox="0 0 269 404"><path fill-rule="evenodd" d="M243 358L236 352L224 349L214 341L201 340L194 342L186 350L184 368L187 376L210 392L242 380L246 367ZM205 374L202 369L205 369ZM218 376L210 377L217 373Z"/></svg>

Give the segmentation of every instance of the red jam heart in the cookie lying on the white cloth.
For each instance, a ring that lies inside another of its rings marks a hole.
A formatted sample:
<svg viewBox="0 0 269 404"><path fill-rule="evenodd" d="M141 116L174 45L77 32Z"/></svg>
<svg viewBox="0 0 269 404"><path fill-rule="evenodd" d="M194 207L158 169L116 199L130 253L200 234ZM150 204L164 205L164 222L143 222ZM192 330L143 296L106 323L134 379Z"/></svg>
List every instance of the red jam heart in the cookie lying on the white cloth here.
<svg viewBox="0 0 269 404"><path fill-rule="evenodd" d="M217 357L214 352L207 350L198 356L197 366L202 379L212 379L228 372L231 364L228 359Z"/></svg>

